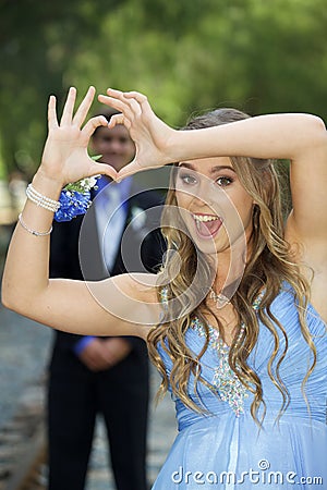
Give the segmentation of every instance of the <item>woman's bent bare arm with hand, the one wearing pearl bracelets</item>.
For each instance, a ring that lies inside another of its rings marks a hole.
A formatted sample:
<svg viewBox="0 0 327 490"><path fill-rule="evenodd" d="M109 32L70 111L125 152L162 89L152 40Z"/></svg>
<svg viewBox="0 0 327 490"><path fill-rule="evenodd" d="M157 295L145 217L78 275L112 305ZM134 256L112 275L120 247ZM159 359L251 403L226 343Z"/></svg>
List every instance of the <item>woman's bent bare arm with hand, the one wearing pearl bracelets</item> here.
<svg viewBox="0 0 327 490"><path fill-rule="evenodd" d="M94 93L94 88L88 90L73 115L76 93L71 89L60 123L57 121L56 99L50 98L49 135L33 185L51 199L59 198L66 183L84 176L99 173L116 176L113 169L96 163L87 155L92 133L98 125L107 124L104 118L94 118L81 128ZM51 226L53 213L27 200L23 219L31 230L46 232ZM155 297L153 290L135 278L124 275L116 281L109 279L88 284L49 280L48 265L49 236L36 236L17 224L4 268L3 304L41 323L82 334L143 336L147 319L149 323L157 320L143 303L147 298L152 302ZM90 318L96 330L89 327Z"/></svg>

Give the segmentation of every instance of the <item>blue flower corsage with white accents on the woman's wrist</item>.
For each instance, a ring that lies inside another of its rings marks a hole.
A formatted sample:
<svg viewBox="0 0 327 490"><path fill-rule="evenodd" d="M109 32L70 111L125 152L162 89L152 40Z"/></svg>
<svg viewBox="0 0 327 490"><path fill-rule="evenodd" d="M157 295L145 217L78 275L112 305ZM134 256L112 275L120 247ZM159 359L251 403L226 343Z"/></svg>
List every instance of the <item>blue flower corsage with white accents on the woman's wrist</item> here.
<svg viewBox="0 0 327 490"><path fill-rule="evenodd" d="M95 187L100 175L82 179L68 184L61 191L60 208L55 213L56 221L71 221L78 215L85 215L90 206L90 188Z"/></svg>

